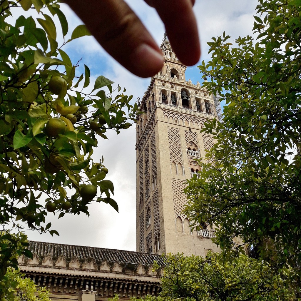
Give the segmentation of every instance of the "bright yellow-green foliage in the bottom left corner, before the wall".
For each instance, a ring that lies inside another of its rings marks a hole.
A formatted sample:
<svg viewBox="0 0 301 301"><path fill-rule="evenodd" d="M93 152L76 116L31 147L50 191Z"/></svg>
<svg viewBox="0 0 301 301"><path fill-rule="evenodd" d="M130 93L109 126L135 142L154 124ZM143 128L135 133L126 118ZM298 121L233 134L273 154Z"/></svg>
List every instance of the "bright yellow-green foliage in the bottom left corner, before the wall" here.
<svg viewBox="0 0 301 301"><path fill-rule="evenodd" d="M2 301L50 301L49 291L38 287L33 280L24 278L19 270L9 268L0 282Z"/></svg>

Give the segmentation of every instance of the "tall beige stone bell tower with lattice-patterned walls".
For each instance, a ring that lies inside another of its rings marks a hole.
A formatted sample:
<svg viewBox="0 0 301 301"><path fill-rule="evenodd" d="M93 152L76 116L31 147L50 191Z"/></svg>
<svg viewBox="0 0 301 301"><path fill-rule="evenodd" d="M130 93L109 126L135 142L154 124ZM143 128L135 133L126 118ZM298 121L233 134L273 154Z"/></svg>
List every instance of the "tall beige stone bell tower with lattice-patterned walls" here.
<svg viewBox="0 0 301 301"><path fill-rule="evenodd" d="M204 157L214 139L200 134L204 121L217 118L212 95L185 79L186 66L166 37L162 70L151 78L142 100L137 132L137 251L205 256L218 251L214 230L189 228L182 213L187 202L185 179L197 177L196 159Z"/></svg>

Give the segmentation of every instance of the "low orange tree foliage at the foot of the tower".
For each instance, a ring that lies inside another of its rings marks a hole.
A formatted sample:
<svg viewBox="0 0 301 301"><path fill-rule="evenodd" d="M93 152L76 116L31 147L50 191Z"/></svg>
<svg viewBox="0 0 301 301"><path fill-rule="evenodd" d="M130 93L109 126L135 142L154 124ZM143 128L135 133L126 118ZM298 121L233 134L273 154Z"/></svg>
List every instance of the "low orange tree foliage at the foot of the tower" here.
<svg viewBox="0 0 301 301"><path fill-rule="evenodd" d="M240 255L233 261L218 253L200 256L169 254L164 258L162 292L146 301L199 300L292 300L285 288L285 273L274 273L269 265ZM154 265L155 266L155 265ZM156 269L160 269L157 265Z"/></svg>

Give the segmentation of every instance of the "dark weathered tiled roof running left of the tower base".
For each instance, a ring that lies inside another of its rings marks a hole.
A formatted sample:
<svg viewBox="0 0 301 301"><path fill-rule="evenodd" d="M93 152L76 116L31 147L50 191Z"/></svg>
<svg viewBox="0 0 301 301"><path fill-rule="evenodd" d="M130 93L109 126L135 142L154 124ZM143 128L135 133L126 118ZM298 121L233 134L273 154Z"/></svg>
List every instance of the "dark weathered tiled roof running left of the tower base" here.
<svg viewBox="0 0 301 301"><path fill-rule="evenodd" d="M39 257L66 257L68 259L78 258L79 261L94 260L97 263L107 261L113 263L141 263L142 265L152 265L157 260L159 265L163 265L163 258L157 254L140 253L133 251L104 249L86 246L74 246L67 244L55 244L40 241L29 241L29 250L33 256Z"/></svg>

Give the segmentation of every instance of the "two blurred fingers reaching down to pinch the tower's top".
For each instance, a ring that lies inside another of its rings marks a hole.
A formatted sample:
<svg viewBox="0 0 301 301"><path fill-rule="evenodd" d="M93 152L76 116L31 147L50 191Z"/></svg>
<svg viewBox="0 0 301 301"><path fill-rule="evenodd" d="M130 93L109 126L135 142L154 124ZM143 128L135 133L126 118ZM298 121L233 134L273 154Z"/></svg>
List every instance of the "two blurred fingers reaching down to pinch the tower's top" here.
<svg viewBox="0 0 301 301"><path fill-rule="evenodd" d="M149 77L162 68L161 49L123 0L65 0L101 46L130 72ZM194 0L145 0L162 19L178 59L191 66L200 58Z"/></svg>

